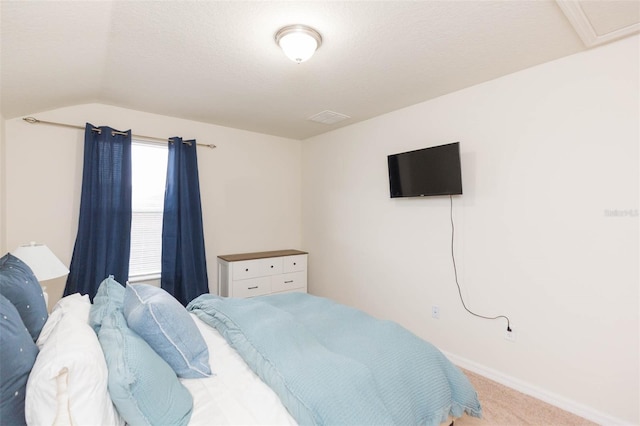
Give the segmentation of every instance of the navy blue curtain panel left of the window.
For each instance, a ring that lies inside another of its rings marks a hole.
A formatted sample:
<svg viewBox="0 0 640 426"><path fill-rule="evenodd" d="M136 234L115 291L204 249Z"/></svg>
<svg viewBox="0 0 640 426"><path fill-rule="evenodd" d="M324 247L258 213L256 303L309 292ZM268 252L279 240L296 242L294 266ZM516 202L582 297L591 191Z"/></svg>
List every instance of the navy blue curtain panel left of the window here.
<svg viewBox="0 0 640 426"><path fill-rule="evenodd" d="M91 300L109 275L127 281L131 241L131 131L94 129L87 123L84 132L80 219L64 289Z"/></svg>

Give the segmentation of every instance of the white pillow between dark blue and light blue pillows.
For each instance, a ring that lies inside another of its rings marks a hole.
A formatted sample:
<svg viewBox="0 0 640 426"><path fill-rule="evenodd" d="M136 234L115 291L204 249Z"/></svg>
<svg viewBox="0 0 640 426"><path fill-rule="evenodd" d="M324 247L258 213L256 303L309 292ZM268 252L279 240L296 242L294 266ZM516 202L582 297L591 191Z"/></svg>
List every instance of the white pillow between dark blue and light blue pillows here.
<svg viewBox="0 0 640 426"><path fill-rule="evenodd" d="M124 424L107 390L102 348L87 322L88 313L77 309L79 306L82 304L63 303L57 309L60 317L45 338L27 382L28 424L51 425L60 415L78 425ZM61 373L66 376L66 386L59 386Z"/></svg>

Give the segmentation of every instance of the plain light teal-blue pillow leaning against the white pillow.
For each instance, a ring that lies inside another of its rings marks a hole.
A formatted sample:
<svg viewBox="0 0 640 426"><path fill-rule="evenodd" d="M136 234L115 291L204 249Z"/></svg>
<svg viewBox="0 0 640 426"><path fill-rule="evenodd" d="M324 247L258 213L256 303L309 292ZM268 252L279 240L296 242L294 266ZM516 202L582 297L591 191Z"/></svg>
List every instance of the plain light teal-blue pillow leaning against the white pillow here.
<svg viewBox="0 0 640 426"><path fill-rule="evenodd" d="M98 333L109 370L109 395L130 425L186 425L193 398L176 373L136 333L122 312L103 318Z"/></svg>

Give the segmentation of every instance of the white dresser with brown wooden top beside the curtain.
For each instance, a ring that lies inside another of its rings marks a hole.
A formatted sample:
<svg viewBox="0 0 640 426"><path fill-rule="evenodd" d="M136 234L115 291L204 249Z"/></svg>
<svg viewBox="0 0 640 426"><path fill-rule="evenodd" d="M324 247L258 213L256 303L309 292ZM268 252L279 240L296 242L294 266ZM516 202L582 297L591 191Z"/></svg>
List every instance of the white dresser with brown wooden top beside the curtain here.
<svg viewBox="0 0 640 426"><path fill-rule="evenodd" d="M307 256L300 250L276 250L218 256L218 294L253 297L307 291Z"/></svg>

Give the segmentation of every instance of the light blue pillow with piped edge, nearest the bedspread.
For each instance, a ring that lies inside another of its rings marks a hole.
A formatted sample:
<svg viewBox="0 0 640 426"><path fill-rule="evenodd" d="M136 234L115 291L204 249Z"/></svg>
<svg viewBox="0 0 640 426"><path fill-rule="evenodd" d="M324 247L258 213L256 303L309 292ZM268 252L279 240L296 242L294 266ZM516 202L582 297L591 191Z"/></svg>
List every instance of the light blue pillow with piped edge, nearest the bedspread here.
<svg viewBox="0 0 640 426"><path fill-rule="evenodd" d="M129 327L173 368L178 377L211 376L207 344L176 298L159 287L129 284L124 293L123 309Z"/></svg>

